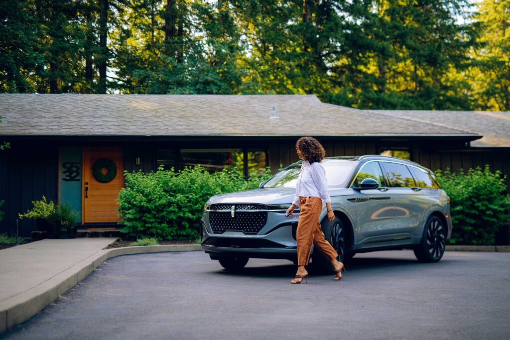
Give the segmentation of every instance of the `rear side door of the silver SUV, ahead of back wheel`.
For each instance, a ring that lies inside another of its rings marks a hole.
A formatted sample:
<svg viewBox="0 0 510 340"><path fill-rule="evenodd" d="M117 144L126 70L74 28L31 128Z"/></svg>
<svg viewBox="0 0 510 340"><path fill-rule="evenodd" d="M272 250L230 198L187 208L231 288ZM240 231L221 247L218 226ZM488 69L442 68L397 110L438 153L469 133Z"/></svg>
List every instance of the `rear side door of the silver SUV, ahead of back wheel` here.
<svg viewBox="0 0 510 340"><path fill-rule="evenodd" d="M393 237L394 244L414 243L421 238L422 216L428 206L427 199L420 193L413 175L403 163L381 161L389 180L388 194L395 203Z"/></svg>

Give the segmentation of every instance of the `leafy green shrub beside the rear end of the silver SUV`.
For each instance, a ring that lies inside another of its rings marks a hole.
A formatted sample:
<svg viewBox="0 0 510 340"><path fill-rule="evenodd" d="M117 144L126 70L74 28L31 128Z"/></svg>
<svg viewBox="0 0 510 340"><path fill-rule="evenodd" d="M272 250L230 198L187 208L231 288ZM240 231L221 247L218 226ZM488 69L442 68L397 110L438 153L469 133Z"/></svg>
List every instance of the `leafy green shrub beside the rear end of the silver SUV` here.
<svg viewBox="0 0 510 340"><path fill-rule="evenodd" d="M498 229L509 221L510 196L506 194L506 176L489 165L461 169L452 173L446 169L435 172L441 187L450 197L453 222L451 244L493 245Z"/></svg>

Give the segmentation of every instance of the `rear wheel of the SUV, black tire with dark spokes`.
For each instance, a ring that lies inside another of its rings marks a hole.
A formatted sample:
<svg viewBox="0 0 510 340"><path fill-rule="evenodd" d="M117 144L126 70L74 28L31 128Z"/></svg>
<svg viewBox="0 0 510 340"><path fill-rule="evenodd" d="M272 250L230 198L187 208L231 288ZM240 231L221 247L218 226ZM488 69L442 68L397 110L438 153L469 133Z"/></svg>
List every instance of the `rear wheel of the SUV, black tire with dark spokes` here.
<svg viewBox="0 0 510 340"><path fill-rule="evenodd" d="M446 228L437 216L430 216L423 228L420 244L414 249L420 262L438 262L445 252Z"/></svg>

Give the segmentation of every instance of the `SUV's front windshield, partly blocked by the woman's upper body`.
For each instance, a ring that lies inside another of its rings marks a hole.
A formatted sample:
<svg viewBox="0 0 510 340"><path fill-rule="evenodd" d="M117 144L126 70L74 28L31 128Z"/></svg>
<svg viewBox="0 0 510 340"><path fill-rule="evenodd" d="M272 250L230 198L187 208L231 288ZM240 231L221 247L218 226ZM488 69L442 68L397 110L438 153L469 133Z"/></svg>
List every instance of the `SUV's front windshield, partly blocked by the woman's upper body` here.
<svg viewBox="0 0 510 340"><path fill-rule="evenodd" d="M357 161L329 160L323 161L329 188L345 188L349 174L358 165ZM301 163L292 164L269 178L262 188L295 188Z"/></svg>

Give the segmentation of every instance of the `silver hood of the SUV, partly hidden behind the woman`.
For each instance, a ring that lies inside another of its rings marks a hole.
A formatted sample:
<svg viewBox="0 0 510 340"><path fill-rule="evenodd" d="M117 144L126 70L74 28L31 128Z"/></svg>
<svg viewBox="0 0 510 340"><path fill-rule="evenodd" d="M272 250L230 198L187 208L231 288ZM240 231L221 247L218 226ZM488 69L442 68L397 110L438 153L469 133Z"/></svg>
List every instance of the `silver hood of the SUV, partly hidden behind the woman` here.
<svg viewBox="0 0 510 340"><path fill-rule="evenodd" d="M351 189L329 189L330 196L349 195ZM296 195L296 188L263 188L220 194L211 197L207 204L216 203L262 203L290 204Z"/></svg>

